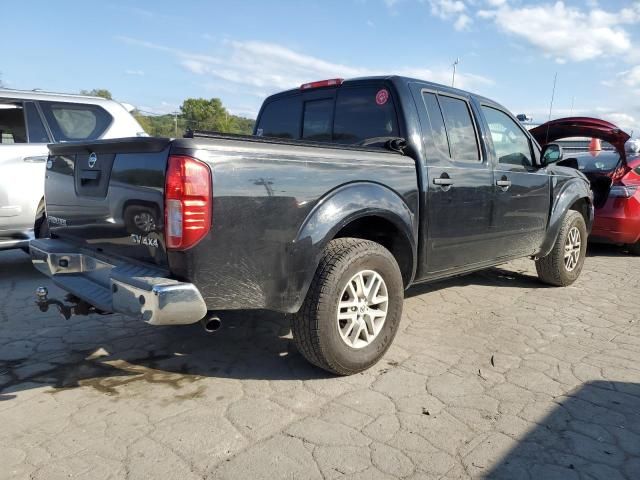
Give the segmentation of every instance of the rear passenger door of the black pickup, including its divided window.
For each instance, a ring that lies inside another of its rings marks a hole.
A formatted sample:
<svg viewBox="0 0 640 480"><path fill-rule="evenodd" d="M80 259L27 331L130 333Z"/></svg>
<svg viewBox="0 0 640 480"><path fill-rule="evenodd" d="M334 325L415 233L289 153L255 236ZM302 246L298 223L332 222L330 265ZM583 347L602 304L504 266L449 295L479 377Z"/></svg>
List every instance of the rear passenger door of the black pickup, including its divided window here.
<svg viewBox="0 0 640 480"><path fill-rule="evenodd" d="M427 214L422 216L426 261L422 277L491 260L493 170L479 142L467 98L414 89L423 128Z"/></svg>

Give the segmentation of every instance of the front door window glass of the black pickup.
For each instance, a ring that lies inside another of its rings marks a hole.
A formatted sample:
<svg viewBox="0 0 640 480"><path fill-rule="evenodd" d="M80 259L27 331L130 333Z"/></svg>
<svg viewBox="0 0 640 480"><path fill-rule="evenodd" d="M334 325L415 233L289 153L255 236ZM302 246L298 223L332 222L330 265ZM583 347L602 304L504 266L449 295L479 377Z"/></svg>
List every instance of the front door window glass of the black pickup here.
<svg viewBox="0 0 640 480"><path fill-rule="evenodd" d="M493 148L498 162L523 167L533 166L529 138L506 113L491 107L482 107L491 131Z"/></svg>

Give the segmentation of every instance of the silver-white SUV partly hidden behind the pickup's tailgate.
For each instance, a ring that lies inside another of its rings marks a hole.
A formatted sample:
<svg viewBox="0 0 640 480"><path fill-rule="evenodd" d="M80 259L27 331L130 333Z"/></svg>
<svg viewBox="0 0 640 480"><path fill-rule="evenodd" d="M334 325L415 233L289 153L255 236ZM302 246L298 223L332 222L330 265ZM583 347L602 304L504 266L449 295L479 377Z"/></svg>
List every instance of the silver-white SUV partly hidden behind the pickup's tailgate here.
<svg viewBox="0 0 640 480"><path fill-rule="evenodd" d="M132 107L100 97L0 89L0 250L47 231L47 144L144 136Z"/></svg>

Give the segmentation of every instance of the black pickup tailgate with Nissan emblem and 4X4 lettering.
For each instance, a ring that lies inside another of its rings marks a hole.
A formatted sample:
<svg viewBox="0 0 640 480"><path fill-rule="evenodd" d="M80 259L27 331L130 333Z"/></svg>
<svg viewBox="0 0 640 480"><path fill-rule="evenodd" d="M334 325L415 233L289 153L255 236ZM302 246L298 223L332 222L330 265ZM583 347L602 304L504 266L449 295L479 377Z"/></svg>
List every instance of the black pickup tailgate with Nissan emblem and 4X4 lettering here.
<svg viewBox="0 0 640 480"><path fill-rule="evenodd" d="M150 137L49 145L45 201L52 236L166 267L170 145Z"/></svg>

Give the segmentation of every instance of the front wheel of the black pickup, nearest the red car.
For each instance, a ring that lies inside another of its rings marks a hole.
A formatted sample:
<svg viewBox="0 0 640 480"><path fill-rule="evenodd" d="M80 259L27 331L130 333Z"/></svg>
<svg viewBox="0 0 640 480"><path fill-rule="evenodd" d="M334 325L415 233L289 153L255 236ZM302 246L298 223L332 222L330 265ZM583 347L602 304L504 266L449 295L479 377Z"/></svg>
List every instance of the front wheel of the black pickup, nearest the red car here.
<svg viewBox="0 0 640 480"><path fill-rule="evenodd" d="M569 238L570 234L575 238L575 231L579 234L579 247ZM568 253L565 248L569 248L569 244L574 252L574 257L570 260L565 258L565 253ZM546 284L557 287L571 285L580 276L586 251L587 226L584 218L579 212L569 210L562 221L558 238L551 252L546 257L536 260L538 278ZM576 254L577 258L575 258Z"/></svg>

